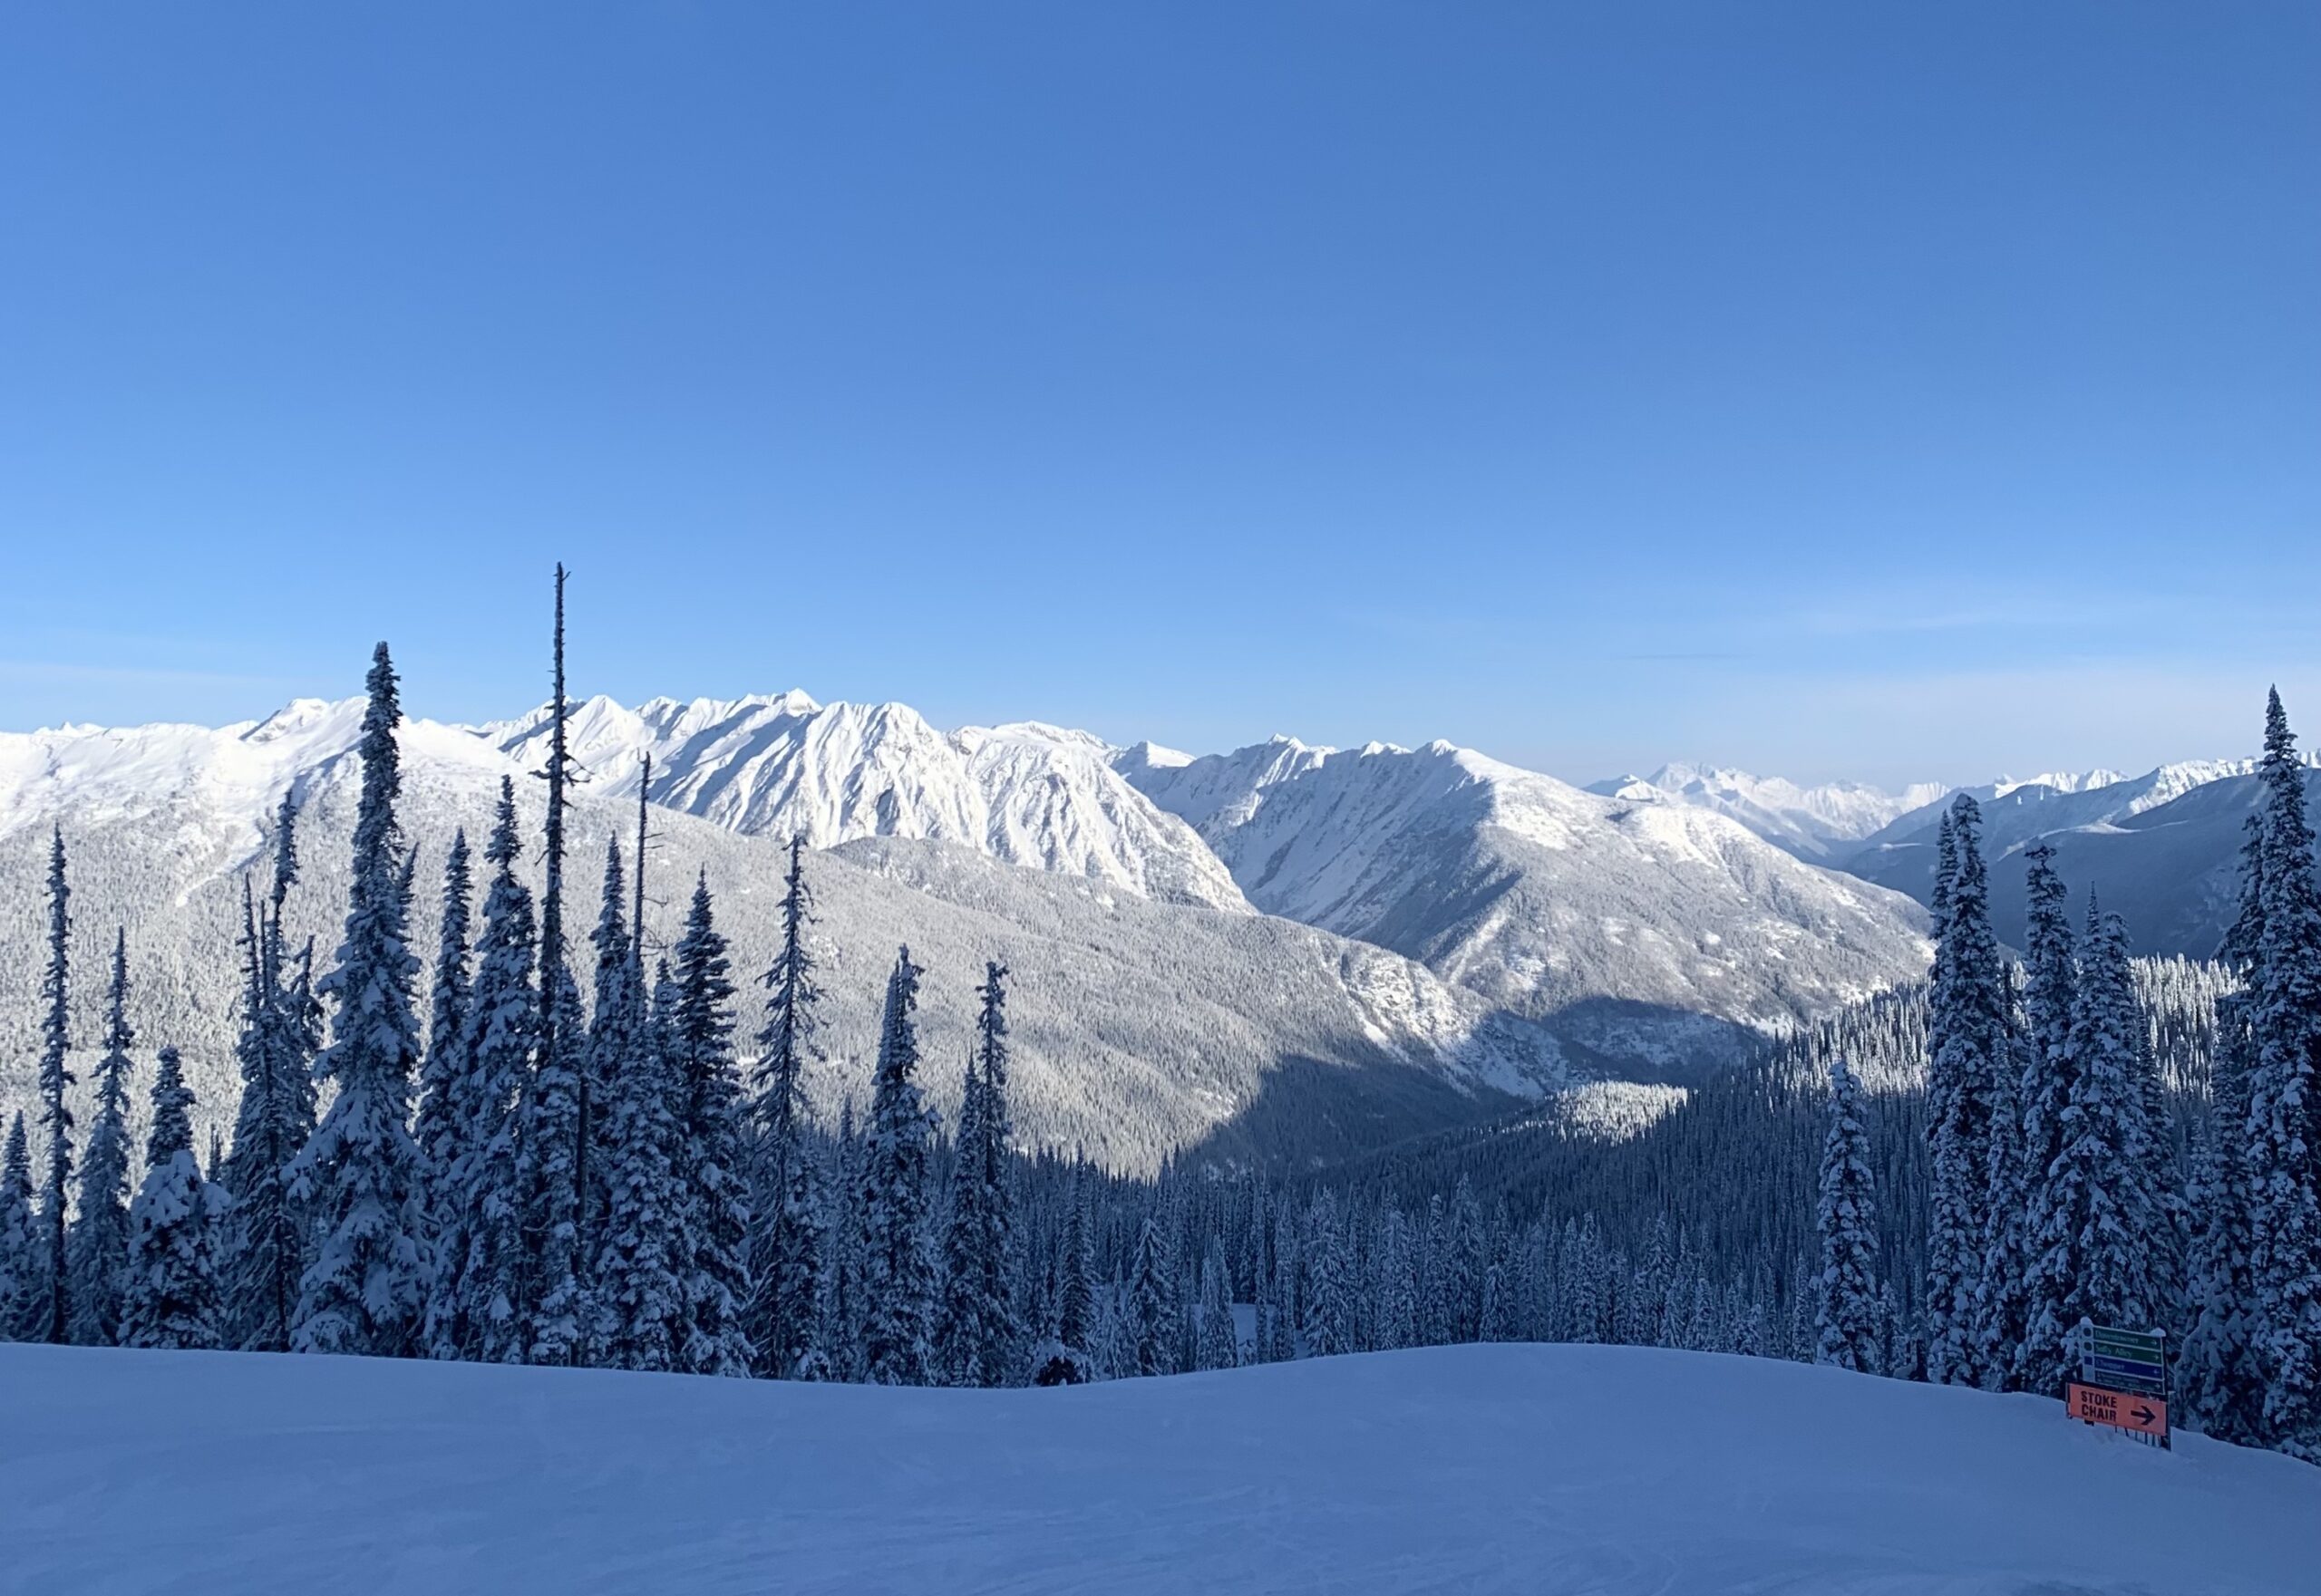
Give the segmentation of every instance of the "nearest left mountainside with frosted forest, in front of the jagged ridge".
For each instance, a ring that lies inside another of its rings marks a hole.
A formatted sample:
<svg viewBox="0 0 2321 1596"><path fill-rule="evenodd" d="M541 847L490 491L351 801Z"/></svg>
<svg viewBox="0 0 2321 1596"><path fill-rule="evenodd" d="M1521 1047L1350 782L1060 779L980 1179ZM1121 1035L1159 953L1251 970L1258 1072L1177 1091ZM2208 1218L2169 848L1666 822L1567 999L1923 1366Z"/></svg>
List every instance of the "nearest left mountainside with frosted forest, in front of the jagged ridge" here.
<svg viewBox="0 0 2321 1596"><path fill-rule="evenodd" d="M77 1037L100 1025L111 928L130 933L132 1021L146 1046L176 1042L204 1116L232 1102L239 877L267 847L281 791L299 791L304 882L292 930L327 958L346 905L360 766L346 705L292 705L260 726L39 733L0 740L0 926L39 935L46 819L72 844ZM991 738L979 754L991 754ZM434 877L455 828L490 826L501 775L538 837L541 782L518 756L453 726L402 728L404 828L418 847L415 946L434 944ZM1109 770L1107 770L1109 775ZM587 784L573 812L573 919L594 919L608 835L634 833L629 793ZM1126 791L1126 789L1123 789ZM1135 798L1135 793L1130 793ZM1147 807L1142 798L1137 805ZM1198 837L1179 821L1191 847ZM1026 817L1010 824L1031 826ZM675 933L706 872L743 972L771 963L782 849L710 819L655 812L652 914ZM1077 872L1000 863L972 842L856 837L815 856L829 1062L810 1090L824 1113L868 1088L875 1004L896 944L926 965L926 1058L938 1104L956 1100L972 986L986 958L1014 972L1017 1125L1026 1141L1084 1146L1121 1169L1167 1153L1332 1155L1411 1130L1504 1111L1562 1081L1539 1028L1423 965L1232 907L1158 902ZM37 960L0 960L0 1111L32 1090ZM747 988L745 988L747 991ZM745 1025L754 1030L754 1021ZM88 1072L84 1069L84 1081ZM142 1097L139 1097L142 1102Z"/></svg>

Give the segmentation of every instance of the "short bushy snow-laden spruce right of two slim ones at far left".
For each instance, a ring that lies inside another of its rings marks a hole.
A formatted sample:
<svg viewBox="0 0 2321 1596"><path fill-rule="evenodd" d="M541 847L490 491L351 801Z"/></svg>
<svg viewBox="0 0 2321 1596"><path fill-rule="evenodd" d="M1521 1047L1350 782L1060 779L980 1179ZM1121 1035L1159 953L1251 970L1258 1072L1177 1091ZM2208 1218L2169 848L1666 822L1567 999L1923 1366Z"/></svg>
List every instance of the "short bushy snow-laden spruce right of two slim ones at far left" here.
<svg viewBox="0 0 2321 1596"><path fill-rule="evenodd" d="M218 1209L225 1197L193 1158L193 1090L176 1049L160 1051L146 1176L130 1204L121 1345L218 1345Z"/></svg>

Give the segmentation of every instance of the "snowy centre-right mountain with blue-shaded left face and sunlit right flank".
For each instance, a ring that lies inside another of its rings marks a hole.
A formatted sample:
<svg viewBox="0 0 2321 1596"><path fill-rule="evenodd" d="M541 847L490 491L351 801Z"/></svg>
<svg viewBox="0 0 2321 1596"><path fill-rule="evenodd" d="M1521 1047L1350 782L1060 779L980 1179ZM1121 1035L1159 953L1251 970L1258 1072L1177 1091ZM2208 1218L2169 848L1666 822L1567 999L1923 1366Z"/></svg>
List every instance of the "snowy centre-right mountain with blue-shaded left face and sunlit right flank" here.
<svg viewBox="0 0 2321 1596"><path fill-rule="evenodd" d="M1193 821L1267 914L1425 960L1613 1072L1680 1074L1917 977L1896 893L1713 810L1585 793L1472 749L1277 738L1121 772Z"/></svg>

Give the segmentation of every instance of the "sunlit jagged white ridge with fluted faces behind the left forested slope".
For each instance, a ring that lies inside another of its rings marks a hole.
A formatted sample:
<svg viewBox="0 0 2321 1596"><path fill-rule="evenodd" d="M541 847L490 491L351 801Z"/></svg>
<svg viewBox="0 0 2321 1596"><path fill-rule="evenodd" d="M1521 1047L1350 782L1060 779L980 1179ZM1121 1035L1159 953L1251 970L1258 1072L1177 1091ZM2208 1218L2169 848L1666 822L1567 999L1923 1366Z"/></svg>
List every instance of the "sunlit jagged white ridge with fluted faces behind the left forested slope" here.
<svg viewBox="0 0 2321 1596"><path fill-rule="evenodd" d="M478 733L538 766L548 712ZM636 793L652 756L652 800L729 830L810 847L856 837L966 842L1012 865L1084 877L1160 902L1246 909L1232 877L1174 814L1147 803L1112 749L1058 726L940 733L901 703L817 705L757 698L655 698L627 710L578 705L573 754L601 793Z"/></svg>

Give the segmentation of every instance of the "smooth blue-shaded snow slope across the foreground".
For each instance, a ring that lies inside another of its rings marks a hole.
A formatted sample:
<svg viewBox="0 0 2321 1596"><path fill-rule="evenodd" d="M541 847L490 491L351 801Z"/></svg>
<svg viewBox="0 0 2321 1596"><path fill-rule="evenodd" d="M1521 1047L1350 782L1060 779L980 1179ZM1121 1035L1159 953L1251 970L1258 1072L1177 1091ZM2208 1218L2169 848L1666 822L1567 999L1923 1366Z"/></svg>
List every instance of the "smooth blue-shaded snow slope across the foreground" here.
<svg viewBox="0 0 2321 1596"><path fill-rule="evenodd" d="M2300 1591L2321 1468L1764 1359L1063 1392L0 1345L0 1589Z"/></svg>

